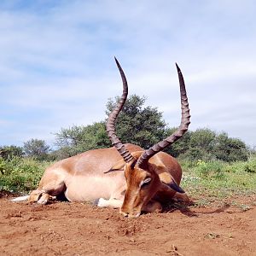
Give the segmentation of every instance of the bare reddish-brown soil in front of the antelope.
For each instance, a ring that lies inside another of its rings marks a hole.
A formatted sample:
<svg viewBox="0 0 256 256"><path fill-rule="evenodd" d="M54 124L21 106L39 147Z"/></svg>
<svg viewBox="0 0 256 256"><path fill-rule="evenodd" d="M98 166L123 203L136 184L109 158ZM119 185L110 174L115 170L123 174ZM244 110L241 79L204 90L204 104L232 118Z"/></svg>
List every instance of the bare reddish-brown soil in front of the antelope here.
<svg viewBox="0 0 256 256"><path fill-rule="evenodd" d="M8 199L0 198L0 255L256 255L256 195L222 207L174 203L139 218L86 203Z"/></svg>

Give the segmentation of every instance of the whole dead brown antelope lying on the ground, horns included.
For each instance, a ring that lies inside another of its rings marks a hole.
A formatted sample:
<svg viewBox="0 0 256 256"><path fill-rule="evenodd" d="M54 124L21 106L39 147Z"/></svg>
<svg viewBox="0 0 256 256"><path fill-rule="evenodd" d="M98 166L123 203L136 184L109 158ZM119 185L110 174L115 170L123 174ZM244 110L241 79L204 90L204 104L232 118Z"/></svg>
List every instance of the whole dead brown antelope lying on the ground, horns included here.
<svg viewBox="0 0 256 256"><path fill-rule="evenodd" d="M189 103L179 67L181 125L171 136L144 150L137 145L124 145L115 133L115 120L128 94L125 73L115 61L123 81L123 95L107 121L113 148L90 150L56 162L44 172L29 201L46 204L50 196L64 193L68 201L97 201L98 207L118 207L122 214L134 218L141 212L160 211L161 203L170 201L174 195L187 197L179 187L182 170L177 160L161 152L183 137L190 123Z"/></svg>

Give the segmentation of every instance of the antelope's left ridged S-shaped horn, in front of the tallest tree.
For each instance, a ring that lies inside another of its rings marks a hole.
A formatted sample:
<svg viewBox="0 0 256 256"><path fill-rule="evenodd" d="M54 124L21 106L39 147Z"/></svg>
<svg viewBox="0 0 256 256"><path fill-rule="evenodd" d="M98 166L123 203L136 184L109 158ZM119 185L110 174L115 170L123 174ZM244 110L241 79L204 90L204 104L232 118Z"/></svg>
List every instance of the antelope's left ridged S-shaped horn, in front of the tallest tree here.
<svg viewBox="0 0 256 256"><path fill-rule="evenodd" d="M119 64L119 61L115 57L114 57L114 60L116 62L117 67L119 68L119 73L123 81L123 94L116 108L114 108L113 111L109 114L106 127L107 127L108 137L112 145L118 150L119 154L124 158L125 162L128 163L131 160L134 160L134 158L131 155L131 153L125 148L125 145L120 142L119 138L115 133L115 120L117 119L119 112L121 111L121 109L125 104L125 101L128 95L128 84L125 78L125 73Z"/></svg>

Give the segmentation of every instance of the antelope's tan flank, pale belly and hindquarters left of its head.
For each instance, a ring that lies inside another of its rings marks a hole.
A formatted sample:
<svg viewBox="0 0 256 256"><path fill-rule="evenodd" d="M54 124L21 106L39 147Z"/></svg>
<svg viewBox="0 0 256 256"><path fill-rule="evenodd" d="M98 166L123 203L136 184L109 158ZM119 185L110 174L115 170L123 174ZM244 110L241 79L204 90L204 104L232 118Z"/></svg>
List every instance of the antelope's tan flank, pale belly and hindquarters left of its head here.
<svg viewBox="0 0 256 256"><path fill-rule="evenodd" d="M125 146L131 152L143 150L133 144ZM124 177L120 172L109 174L104 174L104 172L119 160L122 160L122 157L115 148L90 150L60 160L45 170L38 189L32 191L30 195L30 201L41 199L38 202L45 204L49 197L45 196L46 200L42 201L44 194L56 196L61 193L64 193L69 201L94 201L99 197L109 198L114 194L114 189L119 189L118 183ZM97 184L97 180L100 180L101 183ZM109 183L109 180L112 180L112 183ZM113 183L116 185L113 186ZM102 191L104 188L107 188L108 191ZM83 193L89 195L83 195ZM97 197L97 195L99 196Z"/></svg>

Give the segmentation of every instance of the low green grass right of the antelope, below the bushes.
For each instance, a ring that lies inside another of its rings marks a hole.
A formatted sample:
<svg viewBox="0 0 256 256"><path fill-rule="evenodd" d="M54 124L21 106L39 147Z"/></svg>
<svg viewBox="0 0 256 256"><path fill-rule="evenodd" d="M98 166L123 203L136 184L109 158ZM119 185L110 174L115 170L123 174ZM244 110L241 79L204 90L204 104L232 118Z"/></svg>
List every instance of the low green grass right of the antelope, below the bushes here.
<svg viewBox="0 0 256 256"><path fill-rule="evenodd" d="M204 195L205 201L218 201L235 195L255 195L256 156L247 161L224 162L220 160L196 162L181 161L183 188L194 197ZM250 171L248 171L250 170Z"/></svg>

